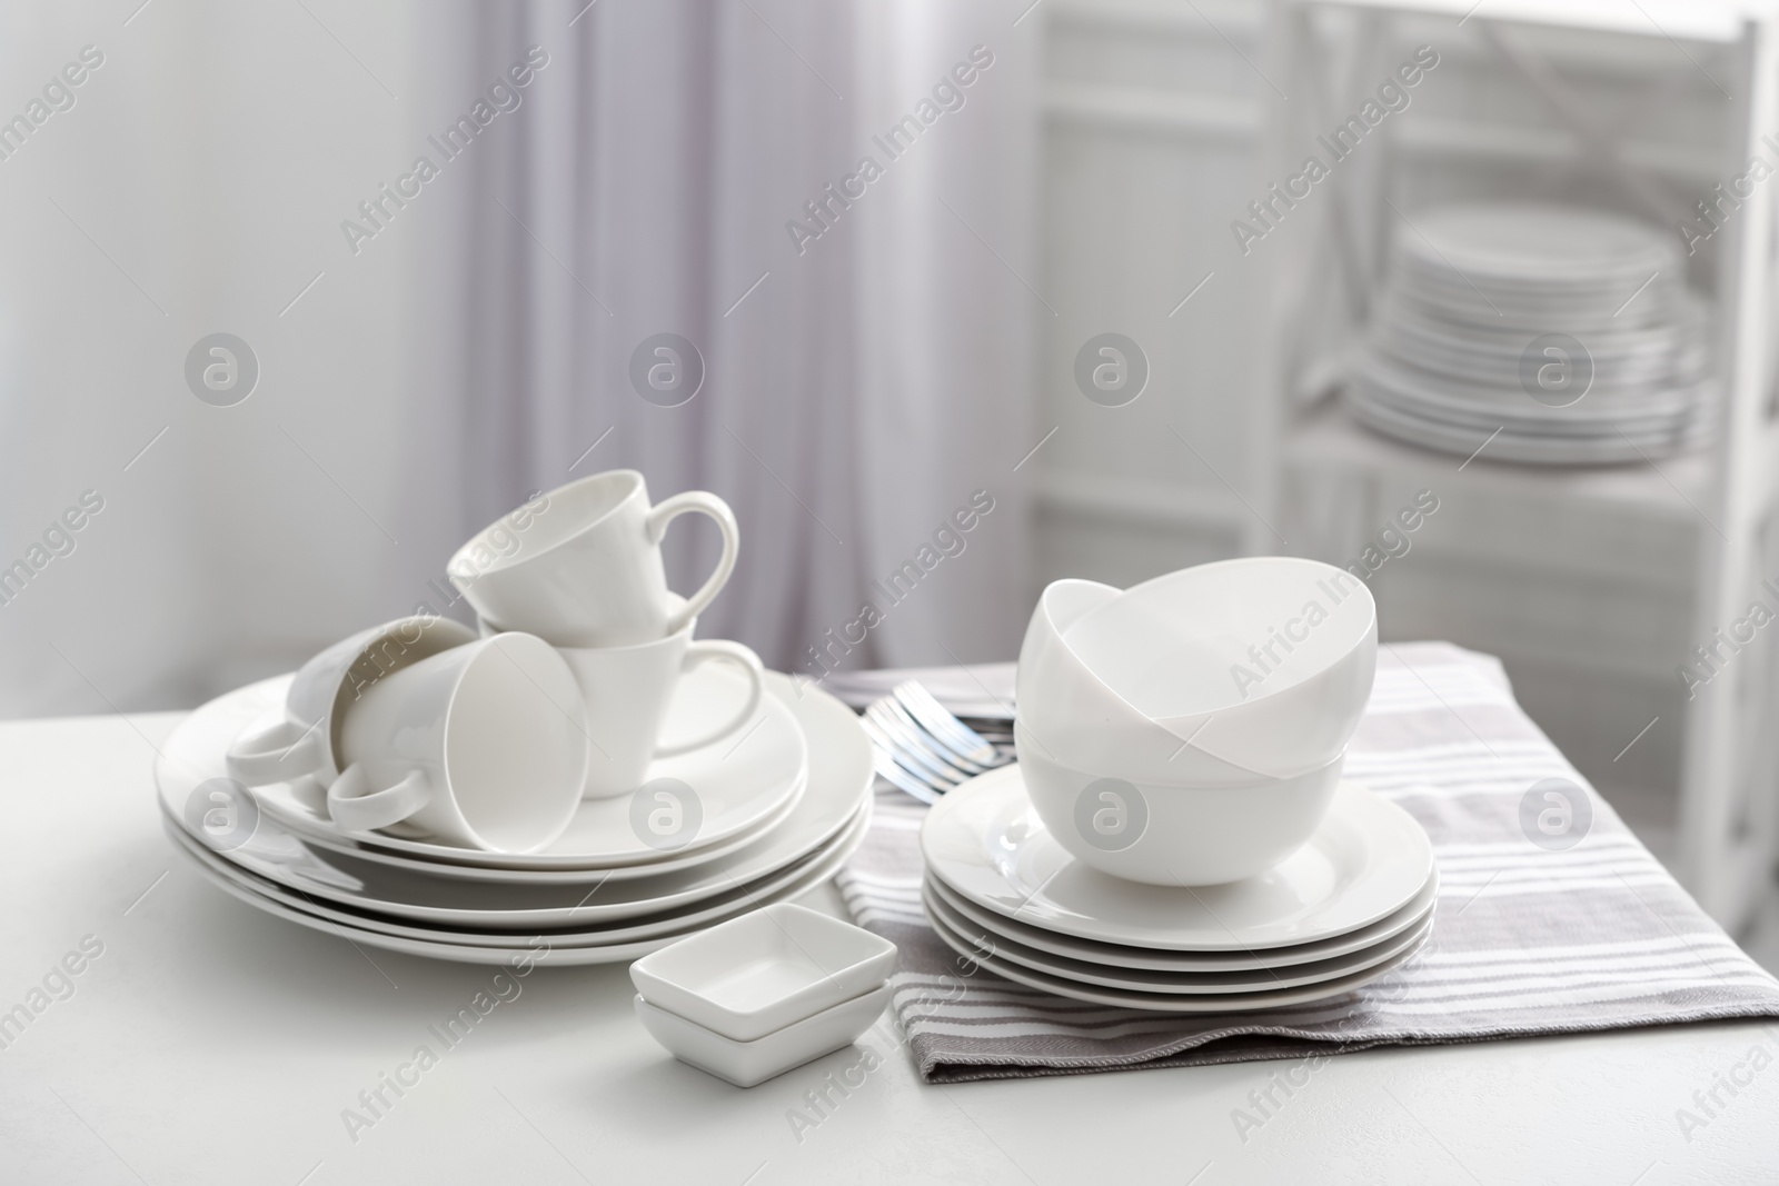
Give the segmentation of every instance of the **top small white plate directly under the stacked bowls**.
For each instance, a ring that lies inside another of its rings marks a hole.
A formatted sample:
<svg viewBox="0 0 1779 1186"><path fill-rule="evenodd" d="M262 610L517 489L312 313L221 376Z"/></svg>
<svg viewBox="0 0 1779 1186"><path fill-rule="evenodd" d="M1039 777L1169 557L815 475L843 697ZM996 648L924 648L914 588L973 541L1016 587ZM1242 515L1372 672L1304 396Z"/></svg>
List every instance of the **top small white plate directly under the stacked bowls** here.
<svg viewBox="0 0 1779 1186"><path fill-rule="evenodd" d="M1322 825L1277 866L1224 885L1146 885L1098 873L1050 836L1019 766L934 804L927 868L970 902L1046 930L1165 951L1258 951L1368 926L1427 884L1434 853L1414 816L1341 782Z"/></svg>

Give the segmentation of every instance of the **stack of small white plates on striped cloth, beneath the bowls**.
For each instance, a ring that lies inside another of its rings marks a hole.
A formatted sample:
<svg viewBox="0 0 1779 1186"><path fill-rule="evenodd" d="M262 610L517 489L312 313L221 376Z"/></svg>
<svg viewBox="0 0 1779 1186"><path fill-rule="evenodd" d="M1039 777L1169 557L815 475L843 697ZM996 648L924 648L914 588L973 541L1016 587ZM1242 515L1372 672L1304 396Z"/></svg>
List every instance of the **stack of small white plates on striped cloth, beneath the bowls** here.
<svg viewBox="0 0 1779 1186"><path fill-rule="evenodd" d="M1432 930L1432 845L1395 804L1343 782L1316 834L1224 885L1094 871L1044 829L1018 766L939 800L922 827L927 918L1009 980L1169 1014L1281 1008L1352 992Z"/></svg>

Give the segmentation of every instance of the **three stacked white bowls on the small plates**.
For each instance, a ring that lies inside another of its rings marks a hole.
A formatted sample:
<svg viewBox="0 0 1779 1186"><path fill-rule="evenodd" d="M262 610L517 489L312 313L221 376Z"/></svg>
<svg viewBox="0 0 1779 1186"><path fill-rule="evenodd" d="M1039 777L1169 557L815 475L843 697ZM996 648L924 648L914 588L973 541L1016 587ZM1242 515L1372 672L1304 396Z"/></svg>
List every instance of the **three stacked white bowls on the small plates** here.
<svg viewBox="0 0 1779 1186"><path fill-rule="evenodd" d="M1032 805L1112 877L1270 869L1327 814L1375 667L1372 592L1315 560L1226 560L1128 590L1055 581L1019 653Z"/></svg>

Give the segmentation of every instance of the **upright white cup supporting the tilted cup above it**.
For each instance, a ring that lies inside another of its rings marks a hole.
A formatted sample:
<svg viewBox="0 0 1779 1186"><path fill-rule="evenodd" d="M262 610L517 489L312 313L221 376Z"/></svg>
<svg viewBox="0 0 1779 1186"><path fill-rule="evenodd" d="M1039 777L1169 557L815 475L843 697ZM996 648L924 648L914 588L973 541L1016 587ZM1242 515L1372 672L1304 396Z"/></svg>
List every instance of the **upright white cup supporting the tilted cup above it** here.
<svg viewBox="0 0 1779 1186"><path fill-rule="evenodd" d="M680 599L674 597L678 603ZM482 621L482 635L502 628ZM630 647L557 647L580 685L587 706L585 798L614 798L635 791L648 779L649 763L703 749L751 724L765 692L760 656L726 638L692 640L697 619L672 635ZM660 745L662 722L680 685L680 676L703 663L731 663L747 681L742 704L697 736Z"/></svg>

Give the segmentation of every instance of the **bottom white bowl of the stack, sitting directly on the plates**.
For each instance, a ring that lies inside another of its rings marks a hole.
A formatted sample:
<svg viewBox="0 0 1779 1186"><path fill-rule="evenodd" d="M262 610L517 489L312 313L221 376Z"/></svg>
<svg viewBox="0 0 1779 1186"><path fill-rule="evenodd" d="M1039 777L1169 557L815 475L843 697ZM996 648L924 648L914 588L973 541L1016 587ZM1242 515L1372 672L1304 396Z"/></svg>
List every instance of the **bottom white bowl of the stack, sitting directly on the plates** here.
<svg viewBox="0 0 1779 1186"><path fill-rule="evenodd" d="M1334 800L1334 761L1290 779L1181 786L1085 773L1014 722L1019 773L1050 834L1083 864L1149 885L1217 885L1263 873L1315 834Z"/></svg>

